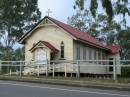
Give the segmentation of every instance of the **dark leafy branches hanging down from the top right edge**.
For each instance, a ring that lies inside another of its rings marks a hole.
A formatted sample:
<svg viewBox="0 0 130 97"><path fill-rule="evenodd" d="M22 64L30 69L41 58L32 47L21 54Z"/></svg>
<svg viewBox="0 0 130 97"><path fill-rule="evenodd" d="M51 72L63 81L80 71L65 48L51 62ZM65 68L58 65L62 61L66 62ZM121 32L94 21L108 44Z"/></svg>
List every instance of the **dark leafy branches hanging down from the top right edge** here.
<svg viewBox="0 0 130 97"><path fill-rule="evenodd" d="M79 9L83 10L85 1L89 2L88 0L75 0L74 8L78 7ZM105 9L109 20L112 20L114 15L122 14L124 17L125 15L130 15L130 6L129 0L100 0L102 3L103 9ZM99 0L91 0L90 1L90 11L94 17L96 17L96 11L98 9Z"/></svg>

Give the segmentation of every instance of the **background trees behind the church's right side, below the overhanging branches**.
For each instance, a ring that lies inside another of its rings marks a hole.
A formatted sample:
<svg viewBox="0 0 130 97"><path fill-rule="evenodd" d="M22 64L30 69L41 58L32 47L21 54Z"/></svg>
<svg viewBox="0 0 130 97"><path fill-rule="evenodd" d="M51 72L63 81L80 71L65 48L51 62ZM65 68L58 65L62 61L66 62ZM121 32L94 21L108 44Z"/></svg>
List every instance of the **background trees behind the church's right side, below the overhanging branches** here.
<svg viewBox="0 0 130 97"><path fill-rule="evenodd" d="M130 28L126 25L126 20L112 20L108 22L108 16L96 14L93 17L91 11L85 9L78 10L76 14L68 18L68 24L92 34L106 44L120 44L122 47L121 58L130 59Z"/></svg>

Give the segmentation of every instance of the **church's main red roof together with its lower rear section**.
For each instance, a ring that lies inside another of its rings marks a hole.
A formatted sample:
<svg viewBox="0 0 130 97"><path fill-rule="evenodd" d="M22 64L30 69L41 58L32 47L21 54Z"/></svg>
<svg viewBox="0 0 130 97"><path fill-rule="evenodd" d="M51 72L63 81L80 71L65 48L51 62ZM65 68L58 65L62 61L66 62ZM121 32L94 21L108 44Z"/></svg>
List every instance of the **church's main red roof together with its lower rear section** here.
<svg viewBox="0 0 130 97"><path fill-rule="evenodd" d="M95 37L91 36L89 33L82 32L82 31L80 31L80 30L78 30L78 29L76 29L76 28L74 28L74 27L72 27L72 26L70 26L68 24L62 23L62 22L60 22L60 21L58 21L56 19L53 19L51 17L48 17L48 16L45 16L39 23L41 23L45 18L48 18L49 20L54 22L56 25L58 25L59 27L63 28L64 30L66 30L68 33L70 33L72 36L76 37L79 40L83 40L83 41L88 42L90 44L93 44L93 45L95 45L97 47L101 47L101 48L103 48L105 50L110 51L111 53L114 53L114 52L118 53L119 49L121 49L119 46L117 47L118 49L115 49L115 47L113 47L113 46L105 46L102 42L97 40ZM31 29L29 32L31 32L32 30L33 29ZM26 33L25 35L23 35L23 37L19 41L23 42L26 39L25 36L28 35L29 32ZM22 40L23 38L25 38L25 39Z"/></svg>

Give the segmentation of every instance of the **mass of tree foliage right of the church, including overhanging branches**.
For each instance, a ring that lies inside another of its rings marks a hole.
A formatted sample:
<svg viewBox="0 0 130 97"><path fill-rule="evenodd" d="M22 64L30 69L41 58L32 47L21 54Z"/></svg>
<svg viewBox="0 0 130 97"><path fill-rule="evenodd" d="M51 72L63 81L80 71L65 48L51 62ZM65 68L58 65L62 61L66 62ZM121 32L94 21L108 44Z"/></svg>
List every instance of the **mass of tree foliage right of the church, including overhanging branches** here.
<svg viewBox="0 0 130 97"><path fill-rule="evenodd" d="M126 20L126 15L130 15L129 0L101 0L107 15L97 12L99 5L99 1L97 1L91 0L90 9L87 9L89 14L86 14L84 11L86 10L84 8L85 0L76 0L76 6L80 12L69 18L68 23L80 30L85 29L85 32L93 34L107 44L120 44L122 47L121 58L130 59L130 46L128 45L130 27ZM88 3L88 0L86 2ZM120 19L115 20L115 17L120 17Z"/></svg>

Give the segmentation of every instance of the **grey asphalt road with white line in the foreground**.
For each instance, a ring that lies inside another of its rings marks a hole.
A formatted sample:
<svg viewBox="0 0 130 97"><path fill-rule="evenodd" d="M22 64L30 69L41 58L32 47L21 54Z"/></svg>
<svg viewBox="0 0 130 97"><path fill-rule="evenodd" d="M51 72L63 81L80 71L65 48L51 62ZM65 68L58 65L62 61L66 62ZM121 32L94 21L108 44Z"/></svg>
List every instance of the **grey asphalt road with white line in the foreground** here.
<svg viewBox="0 0 130 97"><path fill-rule="evenodd" d="M130 91L0 81L0 97L130 97Z"/></svg>

